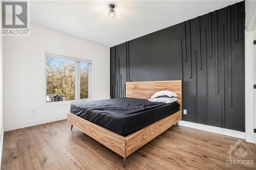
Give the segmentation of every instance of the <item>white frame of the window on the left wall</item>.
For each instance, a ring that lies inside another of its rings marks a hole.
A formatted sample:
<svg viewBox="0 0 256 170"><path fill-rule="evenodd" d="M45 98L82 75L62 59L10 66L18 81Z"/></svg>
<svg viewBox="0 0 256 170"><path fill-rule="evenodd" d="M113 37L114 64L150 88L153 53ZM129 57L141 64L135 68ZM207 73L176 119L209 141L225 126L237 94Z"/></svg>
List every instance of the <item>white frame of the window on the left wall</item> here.
<svg viewBox="0 0 256 170"><path fill-rule="evenodd" d="M47 57L54 57L54 58L60 58L60 59L68 59L75 61L75 100L69 100L69 101L59 101L59 102L47 102L47 83L46 83L46 58ZM87 62L88 63L88 98L87 99L80 99L80 62ZM63 55L57 55L52 53L44 53L44 106L55 106L55 105L62 105L62 104L70 104L75 101L89 101L93 99L92 96L92 61L86 60L86 59L80 59L80 58L74 58L74 57L67 57Z"/></svg>

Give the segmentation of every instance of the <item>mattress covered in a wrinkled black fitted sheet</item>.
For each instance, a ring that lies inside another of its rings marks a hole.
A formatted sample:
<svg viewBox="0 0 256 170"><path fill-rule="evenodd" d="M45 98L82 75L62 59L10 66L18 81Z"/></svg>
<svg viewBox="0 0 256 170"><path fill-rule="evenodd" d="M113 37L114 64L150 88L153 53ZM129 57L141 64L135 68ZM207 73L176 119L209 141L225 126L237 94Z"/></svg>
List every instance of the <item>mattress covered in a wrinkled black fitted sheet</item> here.
<svg viewBox="0 0 256 170"><path fill-rule="evenodd" d="M137 98L82 101L70 106L71 113L122 136L172 115L178 109L177 102L165 104Z"/></svg>

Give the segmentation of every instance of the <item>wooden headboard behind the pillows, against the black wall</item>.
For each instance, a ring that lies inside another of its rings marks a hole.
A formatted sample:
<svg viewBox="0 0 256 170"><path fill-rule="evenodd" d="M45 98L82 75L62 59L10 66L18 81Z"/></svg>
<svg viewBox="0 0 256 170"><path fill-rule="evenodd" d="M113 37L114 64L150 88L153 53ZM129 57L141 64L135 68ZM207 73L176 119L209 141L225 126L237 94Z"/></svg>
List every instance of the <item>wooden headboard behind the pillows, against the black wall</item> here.
<svg viewBox="0 0 256 170"><path fill-rule="evenodd" d="M153 94L161 90L170 90L178 95L178 103L182 105L182 81L148 81L148 82L126 82L126 97L150 99ZM180 109L181 110L181 107Z"/></svg>

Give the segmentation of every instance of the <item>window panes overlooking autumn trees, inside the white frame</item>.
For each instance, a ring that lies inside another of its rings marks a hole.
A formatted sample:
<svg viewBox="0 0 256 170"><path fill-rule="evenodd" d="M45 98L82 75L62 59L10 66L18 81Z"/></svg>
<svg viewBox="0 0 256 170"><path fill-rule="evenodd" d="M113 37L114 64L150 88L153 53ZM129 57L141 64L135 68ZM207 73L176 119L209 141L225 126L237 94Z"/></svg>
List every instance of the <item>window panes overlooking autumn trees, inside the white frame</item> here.
<svg viewBox="0 0 256 170"><path fill-rule="evenodd" d="M46 102L90 98L91 61L46 53Z"/></svg>

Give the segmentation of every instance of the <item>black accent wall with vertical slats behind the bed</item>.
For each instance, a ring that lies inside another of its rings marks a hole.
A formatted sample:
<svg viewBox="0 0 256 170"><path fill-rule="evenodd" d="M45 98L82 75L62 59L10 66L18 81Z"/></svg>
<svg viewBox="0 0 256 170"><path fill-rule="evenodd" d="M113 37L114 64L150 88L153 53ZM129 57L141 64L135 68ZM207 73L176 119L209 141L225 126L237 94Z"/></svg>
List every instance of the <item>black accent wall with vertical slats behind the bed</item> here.
<svg viewBox="0 0 256 170"><path fill-rule="evenodd" d="M244 29L240 2L111 47L111 98L126 81L182 79L183 120L245 131Z"/></svg>

